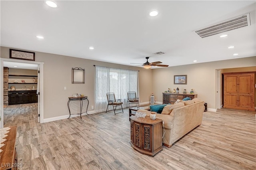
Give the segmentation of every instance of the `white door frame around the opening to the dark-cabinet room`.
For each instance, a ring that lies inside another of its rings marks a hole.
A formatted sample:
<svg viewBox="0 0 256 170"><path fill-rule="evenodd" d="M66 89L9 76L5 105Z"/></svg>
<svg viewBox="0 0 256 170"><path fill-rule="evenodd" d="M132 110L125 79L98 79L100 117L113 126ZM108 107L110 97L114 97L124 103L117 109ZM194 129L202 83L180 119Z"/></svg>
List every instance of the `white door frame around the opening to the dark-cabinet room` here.
<svg viewBox="0 0 256 170"><path fill-rule="evenodd" d="M44 121L44 62L38 62L38 61L25 61L20 59L9 59L9 58L0 58L0 82L4 82L4 61L8 62L16 62L16 63L29 63L29 64L37 64L40 68L40 77L39 77L39 91L40 95L38 95L39 103L38 111L40 111L40 123L43 123ZM39 113L38 113L39 114ZM4 127L4 83L0 83L0 128Z"/></svg>

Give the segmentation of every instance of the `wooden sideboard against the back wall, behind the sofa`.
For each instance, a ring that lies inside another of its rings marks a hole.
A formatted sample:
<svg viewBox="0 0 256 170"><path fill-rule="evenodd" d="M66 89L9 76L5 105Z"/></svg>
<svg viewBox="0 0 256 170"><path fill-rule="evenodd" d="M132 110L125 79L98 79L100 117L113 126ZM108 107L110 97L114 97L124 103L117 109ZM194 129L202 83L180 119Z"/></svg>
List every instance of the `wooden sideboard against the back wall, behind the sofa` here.
<svg viewBox="0 0 256 170"><path fill-rule="evenodd" d="M163 104L174 104L177 99L182 100L185 97L189 97L192 100L197 97L197 94L163 93Z"/></svg>

